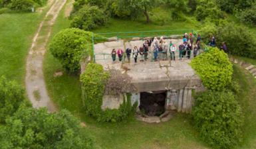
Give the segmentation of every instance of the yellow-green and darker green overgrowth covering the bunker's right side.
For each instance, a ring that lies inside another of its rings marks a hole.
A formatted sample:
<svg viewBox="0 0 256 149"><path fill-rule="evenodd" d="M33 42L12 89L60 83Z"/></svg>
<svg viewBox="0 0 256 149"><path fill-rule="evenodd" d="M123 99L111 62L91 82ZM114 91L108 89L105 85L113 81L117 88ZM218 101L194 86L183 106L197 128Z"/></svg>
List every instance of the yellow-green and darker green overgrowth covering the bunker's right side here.
<svg viewBox="0 0 256 149"><path fill-rule="evenodd" d="M191 64L208 89L195 97L192 114L201 138L215 148L237 146L242 136L243 114L233 95L238 93L239 85L232 80L233 67L227 54L209 48Z"/></svg>

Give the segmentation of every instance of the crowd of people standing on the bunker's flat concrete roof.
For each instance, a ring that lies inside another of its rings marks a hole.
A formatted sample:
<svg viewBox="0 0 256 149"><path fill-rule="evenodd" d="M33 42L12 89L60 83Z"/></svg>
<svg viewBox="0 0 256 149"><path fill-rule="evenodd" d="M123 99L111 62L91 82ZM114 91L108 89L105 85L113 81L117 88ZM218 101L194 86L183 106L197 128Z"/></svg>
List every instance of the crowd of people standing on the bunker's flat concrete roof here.
<svg viewBox="0 0 256 149"><path fill-rule="evenodd" d="M128 62L130 63L131 57L133 57L134 62L137 63L139 57L140 61L148 60L148 52L152 52L152 57L155 61L157 61L158 59L166 60L168 58L169 51L171 60L176 60L176 51L179 50L180 60L185 57L190 59L192 50L193 57L197 56L197 52L200 48L201 36L198 34L196 42L193 42L193 40L194 36L192 33L185 33L183 36L183 43L177 47L176 44L172 43L172 40L170 41L170 45L168 45L168 42L166 42L163 36L160 38L160 40L158 40L157 37L146 38L140 48L138 48L138 46L134 46L133 49L126 48L125 51L120 48L117 51L113 49L111 52L111 56L113 62L116 61L117 55L120 62L122 62L123 58L127 58Z"/></svg>

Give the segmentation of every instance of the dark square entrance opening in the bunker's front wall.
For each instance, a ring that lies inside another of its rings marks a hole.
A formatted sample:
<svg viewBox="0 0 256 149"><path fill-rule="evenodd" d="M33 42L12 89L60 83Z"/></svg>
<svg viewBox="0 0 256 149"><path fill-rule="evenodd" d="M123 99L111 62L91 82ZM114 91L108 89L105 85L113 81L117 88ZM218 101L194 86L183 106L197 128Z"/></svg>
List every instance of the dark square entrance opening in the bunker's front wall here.
<svg viewBox="0 0 256 149"><path fill-rule="evenodd" d="M165 112L166 91L140 93L140 111L150 117L159 117Z"/></svg>

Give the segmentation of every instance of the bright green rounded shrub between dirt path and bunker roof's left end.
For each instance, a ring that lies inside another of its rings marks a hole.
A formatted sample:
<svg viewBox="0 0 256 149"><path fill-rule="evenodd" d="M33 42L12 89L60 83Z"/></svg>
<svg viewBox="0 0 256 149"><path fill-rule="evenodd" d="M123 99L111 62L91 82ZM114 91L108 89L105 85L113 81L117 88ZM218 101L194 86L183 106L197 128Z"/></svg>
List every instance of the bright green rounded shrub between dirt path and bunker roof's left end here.
<svg viewBox="0 0 256 149"><path fill-rule="evenodd" d="M91 45L92 32L68 28L54 36L49 49L51 54L61 62L63 68L69 72L78 72L82 56L90 56L92 53Z"/></svg>

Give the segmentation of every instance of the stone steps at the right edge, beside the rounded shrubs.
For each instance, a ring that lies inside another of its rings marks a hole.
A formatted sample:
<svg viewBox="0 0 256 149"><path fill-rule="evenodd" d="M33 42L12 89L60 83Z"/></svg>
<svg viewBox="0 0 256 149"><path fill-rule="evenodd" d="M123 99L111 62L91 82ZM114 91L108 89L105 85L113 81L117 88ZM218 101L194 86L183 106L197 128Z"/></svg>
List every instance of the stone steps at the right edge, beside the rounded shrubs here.
<svg viewBox="0 0 256 149"><path fill-rule="evenodd" d="M256 78L256 66L255 65L243 62L242 60L239 60L237 58L232 58L232 57L229 58L229 60L231 62L233 62L234 64L238 64L239 66L241 66L242 68L247 70L251 75L253 75L253 77Z"/></svg>

